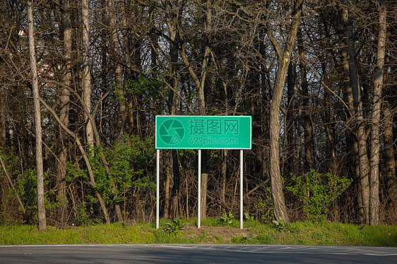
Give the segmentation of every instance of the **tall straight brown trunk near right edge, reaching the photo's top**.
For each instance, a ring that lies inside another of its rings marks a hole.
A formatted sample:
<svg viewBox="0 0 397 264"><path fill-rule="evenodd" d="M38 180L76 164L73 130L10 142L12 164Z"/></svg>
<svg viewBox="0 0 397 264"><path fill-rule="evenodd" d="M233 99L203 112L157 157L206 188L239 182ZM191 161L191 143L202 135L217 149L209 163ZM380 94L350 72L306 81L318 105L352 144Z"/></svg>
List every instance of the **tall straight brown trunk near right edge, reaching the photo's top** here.
<svg viewBox="0 0 397 264"><path fill-rule="evenodd" d="M374 95L372 103L371 174L369 178L369 224L379 224L379 150L381 126L381 100L384 79L384 55L386 46L386 5L379 1L379 35L377 66L375 67Z"/></svg>

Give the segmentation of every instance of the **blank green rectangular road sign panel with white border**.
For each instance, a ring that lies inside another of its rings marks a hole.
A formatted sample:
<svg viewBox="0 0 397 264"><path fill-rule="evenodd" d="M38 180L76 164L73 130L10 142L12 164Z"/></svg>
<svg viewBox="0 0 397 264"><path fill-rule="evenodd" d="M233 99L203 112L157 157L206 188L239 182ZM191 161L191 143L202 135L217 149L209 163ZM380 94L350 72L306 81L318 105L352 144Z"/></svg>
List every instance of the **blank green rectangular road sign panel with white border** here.
<svg viewBox="0 0 397 264"><path fill-rule="evenodd" d="M251 149L251 116L156 116L155 119L157 149Z"/></svg>

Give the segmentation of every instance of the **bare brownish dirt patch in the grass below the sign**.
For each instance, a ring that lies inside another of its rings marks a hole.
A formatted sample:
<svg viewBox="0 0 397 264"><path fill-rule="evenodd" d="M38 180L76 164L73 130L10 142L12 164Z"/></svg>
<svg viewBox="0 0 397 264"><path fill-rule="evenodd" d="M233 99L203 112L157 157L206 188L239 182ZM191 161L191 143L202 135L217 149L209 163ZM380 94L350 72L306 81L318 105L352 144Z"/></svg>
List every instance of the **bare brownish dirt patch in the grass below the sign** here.
<svg viewBox="0 0 397 264"><path fill-rule="evenodd" d="M198 229L193 225L186 225L182 229L183 236L196 238L200 243L230 243L236 236L245 236L250 238L254 236L248 229L239 229L235 227L206 227L201 226Z"/></svg>

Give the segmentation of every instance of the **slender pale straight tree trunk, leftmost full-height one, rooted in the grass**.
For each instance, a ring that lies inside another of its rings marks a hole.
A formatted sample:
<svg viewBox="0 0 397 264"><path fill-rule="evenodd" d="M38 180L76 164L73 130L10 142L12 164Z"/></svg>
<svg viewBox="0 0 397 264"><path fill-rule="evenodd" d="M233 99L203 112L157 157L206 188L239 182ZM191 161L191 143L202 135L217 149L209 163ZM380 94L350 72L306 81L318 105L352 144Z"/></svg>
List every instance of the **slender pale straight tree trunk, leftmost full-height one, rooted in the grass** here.
<svg viewBox="0 0 397 264"><path fill-rule="evenodd" d="M45 197L44 197L44 168L42 161L42 117L40 112L39 82L37 76L37 61L35 53L35 25L33 20L33 1L28 1L28 38L30 73L32 76L32 94L35 107L35 138L36 138L36 183L37 183L37 220L38 229L43 231L47 228L45 219Z"/></svg>

